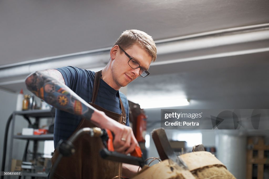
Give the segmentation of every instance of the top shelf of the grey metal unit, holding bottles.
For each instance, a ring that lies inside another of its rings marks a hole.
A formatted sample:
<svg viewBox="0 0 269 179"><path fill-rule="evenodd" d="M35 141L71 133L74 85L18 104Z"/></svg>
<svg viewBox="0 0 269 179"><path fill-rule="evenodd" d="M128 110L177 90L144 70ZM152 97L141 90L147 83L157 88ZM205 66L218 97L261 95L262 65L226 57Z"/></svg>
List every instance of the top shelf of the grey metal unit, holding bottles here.
<svg viewBox="0 0 269 179"><path fill-rule="evenodd" d="M27 117L38 117L38 118L54 117L55 108L46 109L46 110L34 109L34 110L27 110L27 111L15 111L14 114L27 116Z"/></svg>

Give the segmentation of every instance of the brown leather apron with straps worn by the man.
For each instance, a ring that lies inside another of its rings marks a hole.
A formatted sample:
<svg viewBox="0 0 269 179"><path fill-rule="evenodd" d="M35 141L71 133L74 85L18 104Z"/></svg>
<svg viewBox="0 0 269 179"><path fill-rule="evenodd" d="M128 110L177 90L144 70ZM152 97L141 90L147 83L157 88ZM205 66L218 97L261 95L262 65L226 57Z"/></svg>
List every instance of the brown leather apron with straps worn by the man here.
<svg viewBox="0 0 269 179"><path fill-rule="evenodd" d="M122 114L104 109L95 103L100 86L101 71L94 76L93 97L91 103L94 108L105 112L105 114L121 124L126 123L125 108L120 104ZM89 120L82 119L74 133L84 127L96 127ZM75 142L75 154L70 157L63 157L55 171L54 178L82 178L82 179L111 179L122 175L122 163L102 159L99 151L104 147L100 137L90 137L88 134L80 136ZM57 159L59 152L54 151L51 158L52 166Z"/></svg>

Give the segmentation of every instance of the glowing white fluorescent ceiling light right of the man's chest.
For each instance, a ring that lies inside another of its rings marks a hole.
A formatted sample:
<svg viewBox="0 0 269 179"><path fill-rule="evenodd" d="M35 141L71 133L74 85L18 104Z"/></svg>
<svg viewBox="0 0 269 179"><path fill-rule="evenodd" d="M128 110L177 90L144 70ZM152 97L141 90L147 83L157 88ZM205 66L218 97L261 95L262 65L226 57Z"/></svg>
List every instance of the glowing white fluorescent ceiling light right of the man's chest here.
<svg viewBox="0 0 269 179"><path fill-rule="evenodd" d="M187 106L190 104L186 98L177 98L176 96L136 98L133 102L138 103L141 109Z"/></svg>

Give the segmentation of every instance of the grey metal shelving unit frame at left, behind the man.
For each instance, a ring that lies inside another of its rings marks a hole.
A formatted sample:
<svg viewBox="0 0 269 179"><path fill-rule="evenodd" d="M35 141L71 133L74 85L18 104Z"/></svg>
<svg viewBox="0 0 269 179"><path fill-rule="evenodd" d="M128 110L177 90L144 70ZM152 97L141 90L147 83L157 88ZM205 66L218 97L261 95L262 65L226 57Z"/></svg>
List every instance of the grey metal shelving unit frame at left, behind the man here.
<svg viewBox="0 0 269 179"><path fill-rule="evenodd" d="M33 148L33 158L36 158L37 155L37 146L38 141L42 140L53 140L53 134L44 134L44 135L32 135L32 136L22 136L22 135L15 135L14 129L15 129L15 120L16 116L23 116L24 118L35 118L35 123L38 124L38 120L40 118L50 118L55 116L55 108L52 109L46 109L46 110L27 110L27 111L14 111L12 113L12 126L11 126L11 142L9 144L8 149L9 152L9 158L8 158L8 171L11 170L11 159L12 159L12 147L13 147L13 140L33 140L34 142L34 148ZM48 173L30 173L30 172L22 172L22 176L30 176L30 177L47 177ZM8 176L10 178L10 176Z"/></svg>

